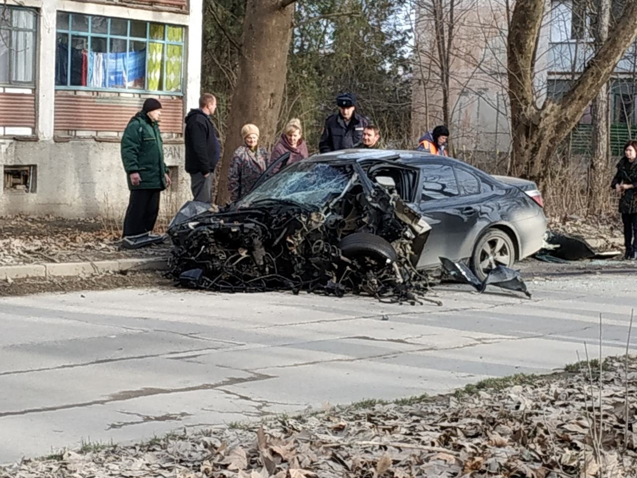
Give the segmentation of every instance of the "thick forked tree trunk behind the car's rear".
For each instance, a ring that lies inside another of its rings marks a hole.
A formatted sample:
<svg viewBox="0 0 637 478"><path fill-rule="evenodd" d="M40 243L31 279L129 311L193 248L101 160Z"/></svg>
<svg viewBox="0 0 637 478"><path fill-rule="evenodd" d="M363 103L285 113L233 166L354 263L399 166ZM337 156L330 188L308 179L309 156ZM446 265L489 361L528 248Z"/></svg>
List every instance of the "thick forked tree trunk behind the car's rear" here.
<svg viewBox="0 0 637 478"><path fill-rule="evenodd" d="M637 0L628 0L622 18L589 61L573 87L559 100L536 105L533 75L545 0L518 0L508 34L508 80L512 114L511 173L543 187L552 152L575 127L585 108L613 73L634 41Z"/></svg>

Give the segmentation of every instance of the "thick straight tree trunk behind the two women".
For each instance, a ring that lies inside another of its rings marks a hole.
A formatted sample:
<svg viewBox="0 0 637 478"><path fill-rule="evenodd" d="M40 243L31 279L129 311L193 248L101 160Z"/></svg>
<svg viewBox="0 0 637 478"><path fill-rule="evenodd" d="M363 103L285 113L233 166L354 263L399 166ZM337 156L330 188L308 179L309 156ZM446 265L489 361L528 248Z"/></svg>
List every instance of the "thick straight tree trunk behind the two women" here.
<svg viewBox="0 0 637 478"><path fill-rule="evenodd" d="M234 150L241 145L241 127L259 127L259 143L274 139L281 108L287 54L290 48L294 0L248 0L236 88L230 103L224 154L217 167L217 203L228 202L228 170Z"/></svg>

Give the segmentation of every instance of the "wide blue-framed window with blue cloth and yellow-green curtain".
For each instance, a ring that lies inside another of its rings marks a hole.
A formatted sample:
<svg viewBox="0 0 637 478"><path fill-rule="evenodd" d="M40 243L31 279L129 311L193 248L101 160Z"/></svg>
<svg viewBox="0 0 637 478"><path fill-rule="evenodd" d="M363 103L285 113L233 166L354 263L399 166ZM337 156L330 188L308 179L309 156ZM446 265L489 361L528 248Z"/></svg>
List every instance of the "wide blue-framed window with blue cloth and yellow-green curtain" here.
<svg viewBox="0 0 637 478"><path fill-rule="evenodd" d="M57 14L57 89L181 94L183 28Z"/></svg>

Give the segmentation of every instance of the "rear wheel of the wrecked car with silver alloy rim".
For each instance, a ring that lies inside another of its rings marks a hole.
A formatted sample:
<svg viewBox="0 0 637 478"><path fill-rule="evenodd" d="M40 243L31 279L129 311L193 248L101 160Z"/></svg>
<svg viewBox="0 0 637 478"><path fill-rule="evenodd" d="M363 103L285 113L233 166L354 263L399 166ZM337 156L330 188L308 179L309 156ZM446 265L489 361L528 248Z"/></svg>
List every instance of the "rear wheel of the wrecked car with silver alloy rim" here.
<svg viewBox="0 0 637 478"><path fill-rule="evenodd" d="M487 229L473 248L471 270L480 280L487 277L496 266L512 267L515 264L515 246L510 236L501 229Z"/></svg>

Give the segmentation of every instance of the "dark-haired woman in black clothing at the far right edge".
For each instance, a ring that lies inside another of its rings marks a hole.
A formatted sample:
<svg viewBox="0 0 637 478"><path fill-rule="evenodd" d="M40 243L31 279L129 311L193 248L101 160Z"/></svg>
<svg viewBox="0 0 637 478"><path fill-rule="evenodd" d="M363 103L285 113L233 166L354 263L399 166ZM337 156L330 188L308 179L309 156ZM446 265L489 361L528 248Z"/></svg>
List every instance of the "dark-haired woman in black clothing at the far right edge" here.
<svg viewBox="0 0 637 478"><path fill-rule="evenodd" d="M624 223L626 259L637 259L637 141L628 141L624 157L617 163L617 173L610 187L620 194L619 212Z"/></svg>

